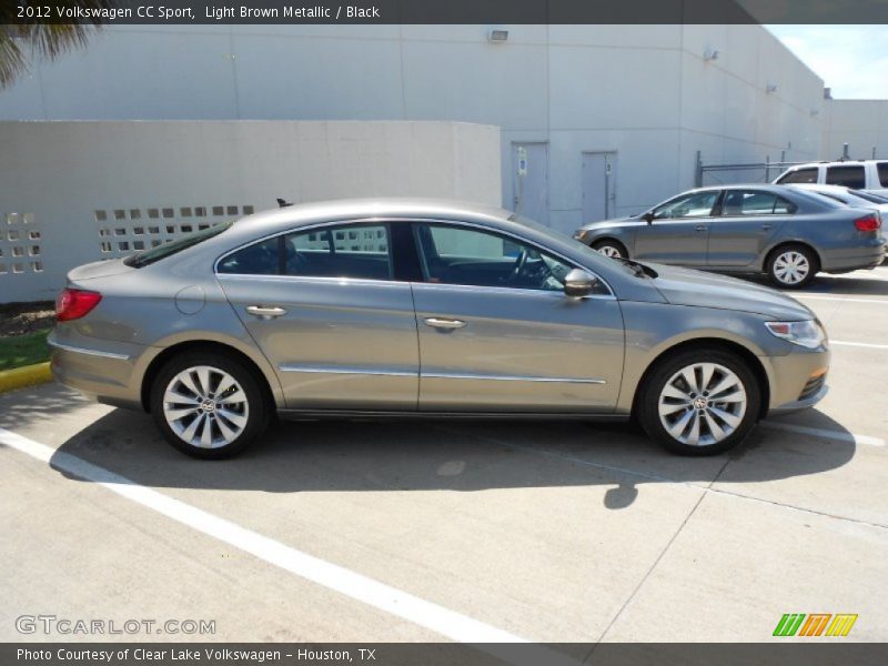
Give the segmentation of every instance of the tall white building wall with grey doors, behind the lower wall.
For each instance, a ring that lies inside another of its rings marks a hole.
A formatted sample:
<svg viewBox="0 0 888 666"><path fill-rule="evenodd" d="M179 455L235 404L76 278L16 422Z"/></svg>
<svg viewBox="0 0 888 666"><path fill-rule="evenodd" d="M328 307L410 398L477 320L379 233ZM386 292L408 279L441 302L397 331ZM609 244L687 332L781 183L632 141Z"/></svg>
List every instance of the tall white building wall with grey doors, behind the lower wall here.
<svg viewBox="0 0 888 666"><path fill-rule="evenodd" d="M495 124L502 201L512 143L547 142L548 219L565 232L583 221L584 151L617 151L620 214L692 186L698 150L820 157L823 81L765 28L504 28L493 44L484 26L115 27L0 93L0 118Z"/></svg>

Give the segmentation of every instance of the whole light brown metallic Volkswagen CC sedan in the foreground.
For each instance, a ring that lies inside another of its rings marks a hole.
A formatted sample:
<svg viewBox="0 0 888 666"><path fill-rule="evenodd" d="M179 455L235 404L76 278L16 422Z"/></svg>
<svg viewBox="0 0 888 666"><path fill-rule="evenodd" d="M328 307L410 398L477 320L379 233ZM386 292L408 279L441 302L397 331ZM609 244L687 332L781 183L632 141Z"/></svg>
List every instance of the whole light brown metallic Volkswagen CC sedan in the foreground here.
<svg viewBox="0 0 888 666"><path fill-rule="evenodd" d="M230 456L281 416L635 416L723 452L826 393L814 313L764 286L614 261L508 211L303 204L71 271L62 383Z"/></svg>

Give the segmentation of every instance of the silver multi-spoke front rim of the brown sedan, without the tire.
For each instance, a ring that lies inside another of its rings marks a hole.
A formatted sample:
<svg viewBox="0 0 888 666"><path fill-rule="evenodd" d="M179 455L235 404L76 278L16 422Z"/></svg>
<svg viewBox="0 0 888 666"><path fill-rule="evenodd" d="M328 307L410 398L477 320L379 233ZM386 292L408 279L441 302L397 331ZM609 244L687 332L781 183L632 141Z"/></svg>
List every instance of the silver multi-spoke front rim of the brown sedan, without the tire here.
<svg viewBox="0 0 888 666"><path fill-rule="evenodd" d="M677 442L709 446L729 437L746 414L747 396L740 379L718 363L694 363L676 372L663 386L659 420Z"/></svg>

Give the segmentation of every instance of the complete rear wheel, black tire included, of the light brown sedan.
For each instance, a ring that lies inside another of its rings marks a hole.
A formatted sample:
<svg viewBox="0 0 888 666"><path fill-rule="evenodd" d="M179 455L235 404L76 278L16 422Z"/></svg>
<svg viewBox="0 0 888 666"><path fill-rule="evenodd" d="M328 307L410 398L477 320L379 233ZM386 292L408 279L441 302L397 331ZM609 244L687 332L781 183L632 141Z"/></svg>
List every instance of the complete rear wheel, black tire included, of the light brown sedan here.
<svg viewBox="0 0 888 666"><path fill-rule="evenodd" d="M154 377L150 405L167 441L202 460L222 460L246 448L265 431L272 411L249 367L212 352L171 359Z"/></svg>

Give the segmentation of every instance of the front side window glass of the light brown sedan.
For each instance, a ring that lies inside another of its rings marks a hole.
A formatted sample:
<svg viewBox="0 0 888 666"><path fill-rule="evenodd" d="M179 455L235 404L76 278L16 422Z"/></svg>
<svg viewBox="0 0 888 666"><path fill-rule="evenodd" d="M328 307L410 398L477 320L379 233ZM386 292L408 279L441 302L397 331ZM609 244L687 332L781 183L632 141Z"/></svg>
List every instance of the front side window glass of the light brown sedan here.
<svg viewBox="0 0 888 666"><path fill-rule="evenodd" d="M562 291L575 266L495 232L448 224L417 224L416 240L426 282ZM599 283L596 293L607 294Z"/></svg>

